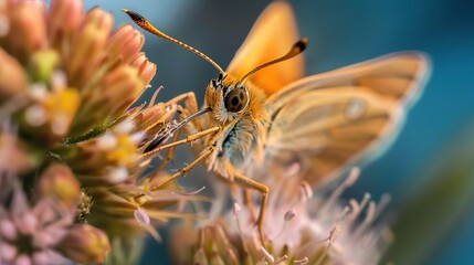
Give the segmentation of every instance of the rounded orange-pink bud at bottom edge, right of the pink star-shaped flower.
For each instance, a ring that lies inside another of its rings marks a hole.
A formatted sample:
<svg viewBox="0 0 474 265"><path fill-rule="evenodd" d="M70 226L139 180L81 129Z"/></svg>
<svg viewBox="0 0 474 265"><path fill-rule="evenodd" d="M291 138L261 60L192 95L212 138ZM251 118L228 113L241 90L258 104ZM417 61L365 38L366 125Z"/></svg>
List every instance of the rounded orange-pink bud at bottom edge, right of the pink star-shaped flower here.
<svg viewBox="0 0 474 265"><path fill-rule="evenodd" d="M76 263L103 263L110 250L107 235L88 224L76 224L59 244L59 251Z"/></svg>

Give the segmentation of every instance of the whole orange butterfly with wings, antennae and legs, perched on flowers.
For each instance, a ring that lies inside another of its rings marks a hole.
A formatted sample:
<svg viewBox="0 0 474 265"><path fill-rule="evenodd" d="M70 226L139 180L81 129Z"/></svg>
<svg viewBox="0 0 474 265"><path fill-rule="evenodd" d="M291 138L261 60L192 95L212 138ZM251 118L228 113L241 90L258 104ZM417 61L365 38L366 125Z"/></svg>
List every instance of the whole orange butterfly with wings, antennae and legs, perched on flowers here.
<svg viewBox="0 0 474 265"><path fill-rule="evenodd" d="M304 77L304 59L298 54L307 39L299 39L292 7L283 1L263 11L227 71L140 14L124 12L219 71L207 85L200 109L194 95L187 94L187 118L178 126L185 128L186 139L164 146L159 139L146 151L193 142L198 158L170 181L203 162L244 190L260 191L256 223L262 242L270 189L255 180L255 171L265 171L265 165L296 162L299 178L316 187L347 166L373 157L393 140L430 72L426 55L400 52Z"/></svg>

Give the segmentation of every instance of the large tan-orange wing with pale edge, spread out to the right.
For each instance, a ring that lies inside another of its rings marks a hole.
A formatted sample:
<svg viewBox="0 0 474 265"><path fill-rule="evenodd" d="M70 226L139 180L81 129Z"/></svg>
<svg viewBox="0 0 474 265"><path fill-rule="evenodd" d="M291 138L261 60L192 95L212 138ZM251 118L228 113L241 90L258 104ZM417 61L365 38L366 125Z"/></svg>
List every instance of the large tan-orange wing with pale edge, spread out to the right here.
<svg viewBox="0 0 474 265"><path fill-rule="evenodd" d="M271 161L298 162L309 183L383 150L419 97L430 63L398 53L308 76L271 96L265 151Z"/></svg>

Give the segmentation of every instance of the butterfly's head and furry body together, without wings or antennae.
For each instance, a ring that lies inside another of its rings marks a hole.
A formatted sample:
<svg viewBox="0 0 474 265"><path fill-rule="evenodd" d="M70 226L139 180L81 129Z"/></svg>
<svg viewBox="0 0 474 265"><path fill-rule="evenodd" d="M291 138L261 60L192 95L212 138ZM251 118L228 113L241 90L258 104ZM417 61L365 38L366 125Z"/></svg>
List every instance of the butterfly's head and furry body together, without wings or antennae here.
<svg viewBox="0 0 474 265"><path fill-rule="evenodd" d="M212 110L203 125L221 127L218 135L203 139L202 146L215 147L206 162L209 170L232 179L235 170L263 160L268 125L264 98L264 93L251 82L240 83L230 75L209 82L204 107Z"/></svg>

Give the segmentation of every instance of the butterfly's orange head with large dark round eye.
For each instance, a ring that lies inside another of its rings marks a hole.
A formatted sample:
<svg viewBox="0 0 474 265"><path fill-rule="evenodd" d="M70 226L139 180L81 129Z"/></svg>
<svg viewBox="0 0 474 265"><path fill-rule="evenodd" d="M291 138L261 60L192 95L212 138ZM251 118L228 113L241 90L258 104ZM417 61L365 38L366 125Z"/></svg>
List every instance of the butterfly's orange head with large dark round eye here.
<svg viewBox="0 0 474 265"><path fill-rule="evenodd" d="M208 83L206 105L212 109L218 120L222 123L233 120L249 108L249 89L230 75L220 74Z"/></svg>

